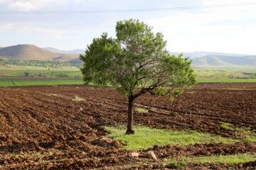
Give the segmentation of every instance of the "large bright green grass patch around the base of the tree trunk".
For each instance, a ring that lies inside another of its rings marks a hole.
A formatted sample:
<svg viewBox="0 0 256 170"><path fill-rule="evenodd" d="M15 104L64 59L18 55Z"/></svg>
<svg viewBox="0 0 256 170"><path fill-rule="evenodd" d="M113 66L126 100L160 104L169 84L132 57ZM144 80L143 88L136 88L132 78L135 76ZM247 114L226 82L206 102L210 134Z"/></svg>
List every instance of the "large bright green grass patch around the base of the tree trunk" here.
<svg viewBox="0 0 256 170"><path fill-rule="evenodd" d="M112 134L108 137L124 143L123 149L146 149L154 145L194 145L196 143L233 143L241 140L233 140L209 133L196 131L174 131L165 129L152 129L148 127L134 127L134 135L124 135L124 127L105 127Z"/></svg>

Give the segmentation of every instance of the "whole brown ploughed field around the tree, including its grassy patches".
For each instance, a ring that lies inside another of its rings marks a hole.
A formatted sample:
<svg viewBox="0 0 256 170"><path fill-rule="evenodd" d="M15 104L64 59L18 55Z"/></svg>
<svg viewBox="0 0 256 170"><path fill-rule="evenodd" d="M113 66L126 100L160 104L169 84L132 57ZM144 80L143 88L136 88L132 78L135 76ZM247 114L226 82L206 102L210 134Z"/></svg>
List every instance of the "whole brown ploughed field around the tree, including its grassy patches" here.
<svg viewBox="0 0 256 170"><path fill-rule="evenodd" d="M144 94L136 133L124 135L127 98L112 87L0 87L0 169L255 169L255 89L199 83L173 102ZM100 147L101 136L124 146Z"/></svg>

